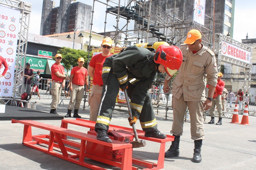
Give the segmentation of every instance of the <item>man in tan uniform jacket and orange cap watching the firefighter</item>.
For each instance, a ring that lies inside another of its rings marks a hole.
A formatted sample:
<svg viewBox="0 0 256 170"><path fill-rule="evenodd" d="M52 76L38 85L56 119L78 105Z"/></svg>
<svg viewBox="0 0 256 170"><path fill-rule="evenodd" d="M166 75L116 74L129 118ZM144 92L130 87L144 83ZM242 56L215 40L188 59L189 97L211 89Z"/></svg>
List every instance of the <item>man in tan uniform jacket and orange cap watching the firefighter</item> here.
<svg viewBox="0 0 256 170"><path fill-rule="evenodd" d="M188 107L190 115L191 139L195 149L193 162L201 162L201 146L204 139L203 110L210 109L212 96L217 84L217 64L214 53L202 42L201 33L191 30L187 34L186 44L180 46L183 62L172 85L173 123L171 133L174 141L165 157L179 156L180 136L183 133L184 117ZM209 84L205 99L206 78ZM169 80L170 81L170 80ZM169 92L168 80L164 81L163 90Z"/></svg>

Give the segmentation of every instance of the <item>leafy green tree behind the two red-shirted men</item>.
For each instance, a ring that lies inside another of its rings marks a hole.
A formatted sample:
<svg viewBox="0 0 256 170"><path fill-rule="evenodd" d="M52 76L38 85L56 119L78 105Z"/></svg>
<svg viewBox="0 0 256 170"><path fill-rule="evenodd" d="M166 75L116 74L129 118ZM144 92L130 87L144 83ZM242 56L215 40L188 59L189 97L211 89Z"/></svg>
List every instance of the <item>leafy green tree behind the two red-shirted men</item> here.
<svg viewBox="0 0 256 170"><path fill-rule="evenodd" d="M76 50L68 47L62 47L60 50L57 51L62 55L61 64L67 71L71 70L72 67L76 67L78 65L77 61L80 57L84 58L84 67L87 68L87 57L88 53L84 50ZM90 54L91 56L92 54ZM52 57L55 59L55 57Z"/></svg>

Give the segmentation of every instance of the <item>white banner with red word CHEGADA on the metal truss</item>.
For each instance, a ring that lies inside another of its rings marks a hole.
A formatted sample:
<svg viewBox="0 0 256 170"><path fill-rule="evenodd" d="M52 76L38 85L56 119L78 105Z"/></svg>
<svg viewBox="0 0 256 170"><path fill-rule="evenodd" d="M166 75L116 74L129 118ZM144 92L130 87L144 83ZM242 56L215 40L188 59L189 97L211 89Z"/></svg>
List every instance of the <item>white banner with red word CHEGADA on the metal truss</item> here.
<svg viewBox="0 0 256 170"><path fill-rule="evenodd" d="M221 44L221 54L236 60L246 62L248 64L250 64L250 59L252 56L251 52L225 41L222 41Z"/></svg>

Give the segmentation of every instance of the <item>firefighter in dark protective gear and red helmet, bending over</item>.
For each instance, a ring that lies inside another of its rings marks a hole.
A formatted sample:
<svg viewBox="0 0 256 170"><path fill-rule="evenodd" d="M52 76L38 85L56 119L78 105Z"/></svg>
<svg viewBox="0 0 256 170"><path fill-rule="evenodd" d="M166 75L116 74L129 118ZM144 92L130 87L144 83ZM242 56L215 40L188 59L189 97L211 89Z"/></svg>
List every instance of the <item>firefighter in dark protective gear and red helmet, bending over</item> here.
<svg viewBox="0 0 256 170"><path fill-rule="evenodd" d="M170 64L171 62L171 64ZM157 130L157 123L148 89L156 81L157 72L169 77L179 69L182 53L176 46L159 46L157 50L129 46L123 52L106 58L103 69L103 90L95 124L97 139L111 143L107 135L119 88L126 89L131 99L130 125L140 120L145 136L166 138ZM175 71L176 70L176 71Z"/></svg>

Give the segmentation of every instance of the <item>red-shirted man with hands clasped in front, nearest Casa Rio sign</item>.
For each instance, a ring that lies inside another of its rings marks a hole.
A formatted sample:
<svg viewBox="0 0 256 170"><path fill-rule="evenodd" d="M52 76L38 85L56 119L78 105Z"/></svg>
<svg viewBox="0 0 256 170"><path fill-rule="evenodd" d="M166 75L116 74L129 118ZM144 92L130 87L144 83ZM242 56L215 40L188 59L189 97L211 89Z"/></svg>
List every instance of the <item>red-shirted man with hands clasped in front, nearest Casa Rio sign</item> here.
<svg viewBox="0 0 256 170"><path fill-rule="evenodd" d="M60 101L61 88L65 87L65 79L66 75L64 74L64 67L60 65L60 61L62 60L61 54L55 55L55 63L51 67L52 73L52 104L50 113L58 115L56 109L57 105Z"/></svg>

